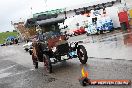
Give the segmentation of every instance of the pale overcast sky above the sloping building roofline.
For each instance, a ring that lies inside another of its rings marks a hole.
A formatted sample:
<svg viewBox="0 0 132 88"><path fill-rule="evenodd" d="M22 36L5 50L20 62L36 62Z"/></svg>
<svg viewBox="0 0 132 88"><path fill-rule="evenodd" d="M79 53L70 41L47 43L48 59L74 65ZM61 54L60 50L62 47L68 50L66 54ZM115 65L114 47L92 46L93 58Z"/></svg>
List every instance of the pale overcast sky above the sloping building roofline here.
<svg viewBox="0 0 132 88"><path fill-rule="evenodd" d="M11 21L26 20L33 13L89 3L93 0L47 0L46 4L45 1L0 0L0 32L14 30L13 26L11 26Z"/></svg>

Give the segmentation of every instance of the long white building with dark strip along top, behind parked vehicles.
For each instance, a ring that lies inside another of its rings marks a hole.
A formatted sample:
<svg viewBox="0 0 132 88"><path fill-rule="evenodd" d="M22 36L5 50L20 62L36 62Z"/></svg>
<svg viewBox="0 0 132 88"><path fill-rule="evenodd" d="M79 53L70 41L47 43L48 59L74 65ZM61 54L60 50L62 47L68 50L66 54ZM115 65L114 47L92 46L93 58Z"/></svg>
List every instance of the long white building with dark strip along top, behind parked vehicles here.
<svg viewBox="0 0 132 88"><path fill-rule="evenodd" d="M121 0L98 0L96 2L86 3L82 5L67 7L63 9L56 9L52 11L46 11L41 13L34 14L34 17L44 17L44 14L58 14L57 18L70 18L79 14L89 14L91 10L102 11L106 10L114 24L114 28L121 27L119 20L119 13L121 11L127 11L126 3L131 2L130 0L121 1Z"/></svg>

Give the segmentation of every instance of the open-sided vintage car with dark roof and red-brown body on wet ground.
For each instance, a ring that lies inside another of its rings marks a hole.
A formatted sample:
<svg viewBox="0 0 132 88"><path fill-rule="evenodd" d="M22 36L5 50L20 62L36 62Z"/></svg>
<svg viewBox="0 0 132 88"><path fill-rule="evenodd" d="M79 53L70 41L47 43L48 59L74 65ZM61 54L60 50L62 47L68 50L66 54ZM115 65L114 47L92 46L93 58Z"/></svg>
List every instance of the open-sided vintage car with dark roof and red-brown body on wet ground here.
<svg viewBox="0 0 132 88"><path fill-rule="evenodd" d="M38 62L43 62L46 70L51 73L52 64L72 58L79 58L82 64L86 64L88 56L85 47L78 42L69 43L67 35L60 32L58 23L64 22L64 20L63 18L50 18L27 21L27 26L33 24L41 29L39 34L42 38L40 40L36 38L33 41L32 49L29 50L36 69Z"/></svg>

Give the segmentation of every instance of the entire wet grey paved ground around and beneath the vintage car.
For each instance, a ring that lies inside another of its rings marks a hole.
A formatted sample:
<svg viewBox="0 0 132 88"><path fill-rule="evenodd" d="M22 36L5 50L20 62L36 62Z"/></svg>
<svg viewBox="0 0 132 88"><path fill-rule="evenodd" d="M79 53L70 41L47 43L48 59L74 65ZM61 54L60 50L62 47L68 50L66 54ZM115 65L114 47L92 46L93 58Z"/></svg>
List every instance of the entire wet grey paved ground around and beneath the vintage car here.
<svg viewBox="0 0 132 88"><path fill-rule="evenodd" d="M23 44L0 47L0 88L83 88L79 83L82 67L90 79L129 79L132 81L132 33L113 32L101 35L79 35L69 39L83 41L88 62L78 58L53 65L53 73L43 63L34 69L31 56ZM131 85L86 86L86 88L132 88Z"/></svg>

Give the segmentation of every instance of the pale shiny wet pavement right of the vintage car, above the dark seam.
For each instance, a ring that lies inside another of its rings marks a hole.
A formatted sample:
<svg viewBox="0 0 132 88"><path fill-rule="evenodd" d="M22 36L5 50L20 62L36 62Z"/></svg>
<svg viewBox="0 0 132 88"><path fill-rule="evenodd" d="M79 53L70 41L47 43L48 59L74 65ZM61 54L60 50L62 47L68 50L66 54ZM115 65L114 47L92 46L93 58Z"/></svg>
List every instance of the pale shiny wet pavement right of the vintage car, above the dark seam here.
<svg viewBox="0 0 132 88"><path fill-rule="evenodd" d="M132 60L132 32L93 35L83 41L90 57Z"/></svg>

